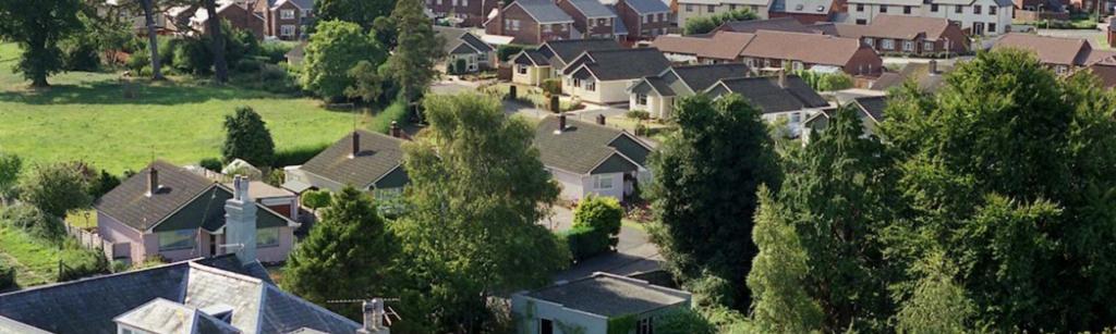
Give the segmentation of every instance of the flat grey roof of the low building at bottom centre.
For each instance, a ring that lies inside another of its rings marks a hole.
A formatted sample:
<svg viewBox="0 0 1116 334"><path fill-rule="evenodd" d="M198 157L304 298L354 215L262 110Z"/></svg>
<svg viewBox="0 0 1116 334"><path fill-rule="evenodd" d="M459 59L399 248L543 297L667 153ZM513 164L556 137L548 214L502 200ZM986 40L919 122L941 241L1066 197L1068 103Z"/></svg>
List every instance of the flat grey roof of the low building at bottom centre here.
<svg viewBox="0 0 1116 334"><path fill-rule="evenodd" d="M604 273L555 284L527 296L606 317L638 315L675 305L690 307L690 293Z"/></svg>

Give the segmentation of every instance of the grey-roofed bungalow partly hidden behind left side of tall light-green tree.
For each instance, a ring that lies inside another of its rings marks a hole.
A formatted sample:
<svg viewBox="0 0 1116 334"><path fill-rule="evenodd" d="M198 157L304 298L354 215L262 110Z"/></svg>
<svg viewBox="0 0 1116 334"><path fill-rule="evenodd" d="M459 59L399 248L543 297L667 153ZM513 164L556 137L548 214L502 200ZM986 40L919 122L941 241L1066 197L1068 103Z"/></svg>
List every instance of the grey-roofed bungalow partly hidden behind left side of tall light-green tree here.
<svg viewBox="0 0 1116 334"><path fill-rule="evenodd" d="M340 191L346 185L374 197L403 194L410 183L403 169L402 131L393 136L356 130L301 166L290 166L283 187L296 193L309 188Z"/></svg>

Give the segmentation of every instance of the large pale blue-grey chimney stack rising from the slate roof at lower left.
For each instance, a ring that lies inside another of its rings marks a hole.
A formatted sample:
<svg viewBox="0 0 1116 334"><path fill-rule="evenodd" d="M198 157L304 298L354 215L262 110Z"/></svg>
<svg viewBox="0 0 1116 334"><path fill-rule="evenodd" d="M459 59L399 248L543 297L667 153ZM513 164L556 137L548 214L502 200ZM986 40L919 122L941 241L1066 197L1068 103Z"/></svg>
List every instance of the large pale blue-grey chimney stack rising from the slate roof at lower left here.
<svg viewBox="0 0 1116 334"><path fill-rule="evenodd" d="M224 202L224 242L237 249L241 264L256 262L256 202L248 195L248 177L232 179L232 198Z"/></svg>

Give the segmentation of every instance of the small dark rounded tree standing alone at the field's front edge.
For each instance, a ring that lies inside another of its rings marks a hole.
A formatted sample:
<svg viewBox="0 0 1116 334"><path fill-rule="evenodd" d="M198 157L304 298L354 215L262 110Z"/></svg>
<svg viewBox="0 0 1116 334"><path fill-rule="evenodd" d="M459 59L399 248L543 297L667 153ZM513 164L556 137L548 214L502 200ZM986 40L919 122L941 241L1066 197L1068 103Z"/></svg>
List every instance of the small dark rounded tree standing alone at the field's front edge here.
<svg viewBox="0 0 1116 334"><path fill-rule="evenodd" d="M242 159L252 166L270 167L275 161L275 147L271 131L252 108L240 107L233 115L224 117L221 156L225 161Z"/></svg>

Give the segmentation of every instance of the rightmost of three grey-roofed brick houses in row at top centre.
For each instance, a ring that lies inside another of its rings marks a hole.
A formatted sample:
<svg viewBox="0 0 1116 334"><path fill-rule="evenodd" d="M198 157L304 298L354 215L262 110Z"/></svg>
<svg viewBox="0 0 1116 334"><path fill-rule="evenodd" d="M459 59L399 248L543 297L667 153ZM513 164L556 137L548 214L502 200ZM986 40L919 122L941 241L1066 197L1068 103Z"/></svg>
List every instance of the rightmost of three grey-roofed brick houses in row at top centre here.
<svg viewBox="0 0 1116 334"><path fill-rule="evenodd" d="M660 0L618 0L616 14L628 30L629 40L648 40L666 35L674 26L671 8Z"/></svg>

